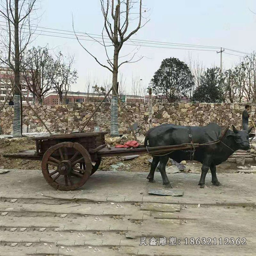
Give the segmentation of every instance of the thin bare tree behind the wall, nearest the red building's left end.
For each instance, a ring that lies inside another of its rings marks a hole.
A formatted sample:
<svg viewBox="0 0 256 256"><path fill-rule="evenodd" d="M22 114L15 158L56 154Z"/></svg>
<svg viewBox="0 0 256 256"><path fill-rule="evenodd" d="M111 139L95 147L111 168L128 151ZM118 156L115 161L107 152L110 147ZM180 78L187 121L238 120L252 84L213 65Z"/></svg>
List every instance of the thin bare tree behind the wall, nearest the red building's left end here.
<svg viewBox="0 0 256 256"><path fill-rule="evenodd" d="M58 52L56 60L53 62L50 69L52 88L58 93L62 104L66 104L67 93L70 90L70 86L76 83L77 71L72 68L73 62L74 56L64 57L61 52Z"/></svg>

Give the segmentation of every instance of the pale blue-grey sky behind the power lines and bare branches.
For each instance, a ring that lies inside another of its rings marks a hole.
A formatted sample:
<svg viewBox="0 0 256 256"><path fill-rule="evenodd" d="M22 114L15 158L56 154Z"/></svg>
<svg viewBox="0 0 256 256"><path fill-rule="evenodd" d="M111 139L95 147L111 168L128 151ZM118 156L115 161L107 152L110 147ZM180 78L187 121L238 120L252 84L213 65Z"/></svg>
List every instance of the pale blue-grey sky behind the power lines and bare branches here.
<svg viewBox="0 0 256 256"><path fill-rule="evenodd" d="M131 39L209 45L249 53L256 50L256 14L253 13L256 13L256 2L253 0L144 0L143 4L148 8L150 20ZM41 0L37 7L41 27L72 31L73 15L76 31L101 34L104 23L100 0ZM135 28L136 24L133 23L132 26ZM40 46L48 44L51 49L54 49L52 51L61 50L66 55L74 55L74 68L77 69L79 78L77 83L72 85L72 91L84 92L88 79L91 82L97 80L98 85L110 79L111 72L100 67L76 39L56 37L65 35L55 32L37 33L41 35L37 35L33 44ZM72 34L71 32L62 33ZM106 64L105 51L100 44L88 41L82 41L82 44ZM216 49L191 51L124 45L120 56L137 49L139 52L136 58L143 56L143 59L136 63L124 64L119 70L123 75L127 93L132 93L132 77L141 79L142 85L147 86L165 58L175 57L185 61L190 54L194 59L201 61L205 67L220 66L220 53L217 54ZM234 66L240 59L239 56L227 53L243 55L225 50L222 57L224 69ZM121 60L124 61L125 57Z"/></svg>

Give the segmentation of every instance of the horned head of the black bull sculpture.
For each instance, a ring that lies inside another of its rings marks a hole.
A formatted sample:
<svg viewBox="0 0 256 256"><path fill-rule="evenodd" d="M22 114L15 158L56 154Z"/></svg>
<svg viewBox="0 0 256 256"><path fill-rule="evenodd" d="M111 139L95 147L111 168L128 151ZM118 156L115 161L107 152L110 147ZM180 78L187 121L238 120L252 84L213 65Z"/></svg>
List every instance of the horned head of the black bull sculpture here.
<svg viewBox="0 0 256 256"><path fill-rule="evenodd" d="M227 137L232 136L234 138L236 144L238 144L240 149L243 149L243 150L250 149L249 138L254 136L254 134L250 134L253 127L249 128L248 130L245 130L245 131L237 130L234 125L232 125L232 128L233 128L234 133L228 134Z"/></svg>

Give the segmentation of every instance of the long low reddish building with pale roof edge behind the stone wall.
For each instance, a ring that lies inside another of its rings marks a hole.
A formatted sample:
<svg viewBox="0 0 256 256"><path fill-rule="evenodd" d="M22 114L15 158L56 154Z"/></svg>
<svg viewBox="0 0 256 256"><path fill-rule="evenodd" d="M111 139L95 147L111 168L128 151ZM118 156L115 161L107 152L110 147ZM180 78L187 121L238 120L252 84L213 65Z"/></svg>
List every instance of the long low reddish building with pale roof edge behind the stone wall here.
<svg viewBox="0 0 256 256"><path fill-rule="evenodd" d="M100 102L103 100L105 95L97 93L87 93L87 92L68 92L66 104L69 102ZM109 94L106 101L112 97L112 94ZM122 102L144 102L144 97L138 95L122 95ZM61 105L60 97L57 92L48 92L44 96L44 105Z"/></svg>

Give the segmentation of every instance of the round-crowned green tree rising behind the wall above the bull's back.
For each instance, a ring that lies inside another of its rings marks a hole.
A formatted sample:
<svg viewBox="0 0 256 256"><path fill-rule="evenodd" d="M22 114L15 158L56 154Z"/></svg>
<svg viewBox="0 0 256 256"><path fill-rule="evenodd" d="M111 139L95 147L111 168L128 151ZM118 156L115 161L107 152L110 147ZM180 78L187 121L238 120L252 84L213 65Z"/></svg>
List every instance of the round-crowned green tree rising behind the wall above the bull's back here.
<svg viewBox="0 0 256 256"><path fill-rule="evenodd" d="M165 97L168 102L175 102L189 95L194 79L186 63L177 58L168 58L162 61L150 85L156 97Z"/></svg>

